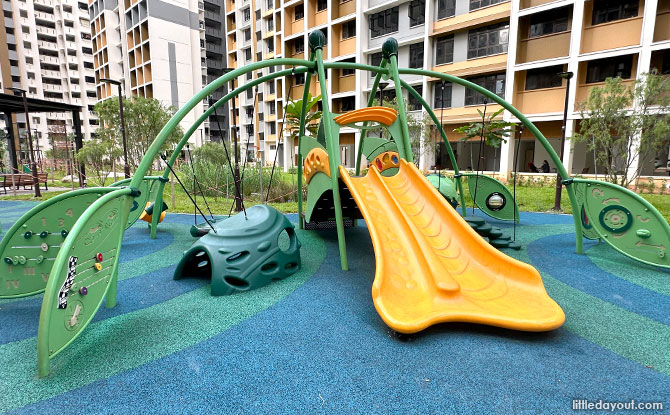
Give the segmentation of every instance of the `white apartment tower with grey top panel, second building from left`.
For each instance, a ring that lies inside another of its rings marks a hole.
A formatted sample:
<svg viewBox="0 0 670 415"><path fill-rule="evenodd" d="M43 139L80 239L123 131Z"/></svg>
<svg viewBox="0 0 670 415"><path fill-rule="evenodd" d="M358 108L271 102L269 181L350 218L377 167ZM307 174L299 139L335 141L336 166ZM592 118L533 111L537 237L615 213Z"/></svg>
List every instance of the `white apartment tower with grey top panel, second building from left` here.
<svg viewBox="0 0 670 415"><path fill-rule="evenodd" d="M223 0L89 0L98 99L118 96L103 78L123 80L126 96L183 106L224 70ZM213 99L223 96L216 91ZM205 99L181 122L184 130L208 108ZM223 111L222 111L223 112ZM205 122L190 142L225 139L227 119ZM221 125L219 129L219 125Z"/></svg>

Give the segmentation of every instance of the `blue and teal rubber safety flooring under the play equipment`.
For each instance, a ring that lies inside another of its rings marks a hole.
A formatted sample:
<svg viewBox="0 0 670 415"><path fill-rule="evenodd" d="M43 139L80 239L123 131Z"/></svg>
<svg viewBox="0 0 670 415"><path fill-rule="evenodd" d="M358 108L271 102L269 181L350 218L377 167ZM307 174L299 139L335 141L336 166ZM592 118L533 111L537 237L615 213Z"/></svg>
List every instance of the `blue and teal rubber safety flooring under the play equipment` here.
<svg viewBox="0 0 670 415"><path fill-rule="evenodd" d="M3 230L31 206L0 203ZM172 279L192 223L168 212L155 240L144 222L126 231L117 306L100 308L45 379L41 295L0 301L0 413L566 414L573 400L631 399L670 408L670 272L595 241L575 254L571 216L522 213L523 248L503 250L540 271L563 327L441 324L411 336L374 309L363 221L347 229L349 271L334 230L296 227L298 273L223 297L208 279Z"/></svg>

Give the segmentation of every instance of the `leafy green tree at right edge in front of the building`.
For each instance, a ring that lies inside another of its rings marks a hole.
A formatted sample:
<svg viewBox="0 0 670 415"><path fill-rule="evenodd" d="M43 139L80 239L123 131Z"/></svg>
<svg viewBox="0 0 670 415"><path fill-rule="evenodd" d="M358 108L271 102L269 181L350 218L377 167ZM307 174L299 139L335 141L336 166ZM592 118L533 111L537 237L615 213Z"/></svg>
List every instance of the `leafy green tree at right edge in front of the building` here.
<svg viewBox="0 0 670 415"><path fill-rule="evenodd" d="M572 139L594 152L608 181L628 187L637 183L642 161L670 142L670 78L655 72L632 84L608 78L591 90L580 112Z"/></svg>

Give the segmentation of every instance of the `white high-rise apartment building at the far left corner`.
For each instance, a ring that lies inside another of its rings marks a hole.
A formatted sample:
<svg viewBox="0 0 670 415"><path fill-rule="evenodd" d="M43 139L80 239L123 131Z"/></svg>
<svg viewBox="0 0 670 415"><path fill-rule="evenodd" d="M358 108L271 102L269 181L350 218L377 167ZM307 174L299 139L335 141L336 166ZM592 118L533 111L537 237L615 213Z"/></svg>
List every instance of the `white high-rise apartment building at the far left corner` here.
<svg viewBox="0 0 670 415"><path fill-rule="evenodd" d="M96 90L88 5L74 0L2 0L0 13L3 92L21 88L31 98L82 107L82 133L90 138L98 120L92 113ZM38 149L50 147L49 132L74 132L71 113L33 113L30 117ZM18 123L20 158L27 159L24 114L17 114L11 122Z"/></svg>

